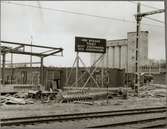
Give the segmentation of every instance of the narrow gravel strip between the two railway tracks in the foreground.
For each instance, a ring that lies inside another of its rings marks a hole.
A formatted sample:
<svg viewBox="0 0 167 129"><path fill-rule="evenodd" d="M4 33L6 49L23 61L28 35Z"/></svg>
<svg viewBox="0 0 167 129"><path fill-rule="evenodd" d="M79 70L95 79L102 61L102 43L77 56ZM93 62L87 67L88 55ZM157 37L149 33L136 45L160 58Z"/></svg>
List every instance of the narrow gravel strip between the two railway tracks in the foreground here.
<svg viewBox="0 0 167 129"><path fill-rule="evenodd" d="M49 124L42 123L42 124L36 124L36 125L26 125L24 127L26 128L54 128L54 129L84 129L86 127L92 126L92 125L101 125L101 124L109 124L113 122L121 122L121 121L130 121L130 120L139 120L145 118L152 118L152 117L158 117L158 116L164 116L162 113L156 113L155 114L147 114L147 115L135 115L134 116L122 116L122 117L108 117L108 118L98 118L98 119L85 119L85 120L77 120L77 121L68 121L68 122L51 122ZM22 128L23 126L12 126L12 128ZM110 127L111 128L111 127ZM118 127L115 127L118 129ZM122 128L122 127L119 127ZM130 129L134 126L124 126L124 129ZM136 127L135 127L136 128ZM114 128L112 128L114 129Z"/></svg>

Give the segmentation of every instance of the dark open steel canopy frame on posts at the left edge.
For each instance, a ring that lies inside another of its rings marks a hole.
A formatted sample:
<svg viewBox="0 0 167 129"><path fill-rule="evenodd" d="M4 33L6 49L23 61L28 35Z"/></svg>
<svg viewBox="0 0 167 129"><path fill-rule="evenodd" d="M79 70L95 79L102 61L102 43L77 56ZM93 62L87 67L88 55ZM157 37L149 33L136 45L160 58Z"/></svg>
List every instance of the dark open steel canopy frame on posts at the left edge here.
<svg viewBox="0 0 167 129"><path fill-rule="evenodd" d="M16 47L9 47L7 45L16 45ZM47 51L43 52L29 52L26 51L27 47L31 48L41 48L41 49L47 49ZM20 49L23 50L20 50ZM30 56L36 56L41 59L40 61L40 84L44 85L44 65L43 60L45 57L48 56L58 56L57 53L61 53L60 56L63 55L63 48L55 48L55 47L48 47L48 46L41 46L41 45L32 45L32 44L25 44L25 43L18 43L18 42L9 42L9 41L1 41L1 55L2 55L2 84L5 84L5 58L6 54L12 53L12 54L23 54L23 55L30 55Z"/></svg>

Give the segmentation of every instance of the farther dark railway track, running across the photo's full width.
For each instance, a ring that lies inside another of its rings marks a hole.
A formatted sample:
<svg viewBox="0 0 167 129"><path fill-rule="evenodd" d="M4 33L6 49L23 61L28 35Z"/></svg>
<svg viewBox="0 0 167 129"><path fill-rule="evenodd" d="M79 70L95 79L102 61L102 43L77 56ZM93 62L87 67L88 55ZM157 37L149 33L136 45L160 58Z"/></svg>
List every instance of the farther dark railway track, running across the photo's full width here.
<svg viewBox="0 0 167 129"><path fill-rule="evenodd" d="M125 116L147 113L163 113L166 112L166 107L153 107L153 108L140 108L140 109L128 109L128 110L113 110L113 111L101 111L101 112L86 112L86 113L73 113L73 114L60 114L60 115L43 115L43 116L31 116L31 117L16 117L16 118L3 118L1 119L1 126L13 126L13 125L27 125L35 123L47 123L51 121L68 121L68 120L81 120L91 118L102 118L112 116ZM165 119L161 117L159 119ZM135 122L132 122L135 123ZM120 123L117 123L117 125ZM123 123L122 123L123 124ZM125 123L124 123L125 124ZM111 126L111 125L99 125ZM115 124L116 126L116 124ZM98 126L92 126L90 128L98 128Z"/></svg>

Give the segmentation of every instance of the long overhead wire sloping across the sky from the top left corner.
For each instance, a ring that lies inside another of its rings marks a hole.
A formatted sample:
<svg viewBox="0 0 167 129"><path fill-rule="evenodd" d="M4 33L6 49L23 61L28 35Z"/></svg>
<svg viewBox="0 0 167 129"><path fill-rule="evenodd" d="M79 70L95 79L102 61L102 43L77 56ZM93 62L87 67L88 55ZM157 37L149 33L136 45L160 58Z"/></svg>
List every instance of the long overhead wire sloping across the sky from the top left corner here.
<svg viewBox="0 0 167 129"><path fill-rule="evenodd" d="M112 20L112 21L120 21L120 22L128 22L128 23L136 24L135 21L125 20L125 19L120 19L120 18L105 17L105 16L92 15L92 14L87 14L87 13L73 12L73 11L69 11L69 10L47 8L47 7L34 6L34 5L29 5L29 4L20 4L20 3L14 3L14 2L3 2L3 3L20 5L20 6L28 6L28 7L32 7L32 8L40 8L40 9L56 11L56 12L62 12L62 13L68 13L68 14L73 14L73 15L81 15L81 16L95 17L95 18L100 18L100 19L106 19L106 20ZM142 24L143 25L151 25L151 26L161 27L161 28L164 27L164 26L155 25L155 24L148 24L148 23L142 23Z"/></svg>

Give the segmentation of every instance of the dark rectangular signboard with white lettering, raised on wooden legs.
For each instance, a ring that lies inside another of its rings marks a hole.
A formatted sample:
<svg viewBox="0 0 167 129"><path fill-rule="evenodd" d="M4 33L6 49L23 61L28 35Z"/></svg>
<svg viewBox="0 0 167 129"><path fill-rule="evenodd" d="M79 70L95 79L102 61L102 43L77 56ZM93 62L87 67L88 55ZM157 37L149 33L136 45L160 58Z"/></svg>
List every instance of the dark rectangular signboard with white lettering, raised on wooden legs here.
<svg viewBox="0 0 167 129"><path fill-rule="evenodd" d="M106 39L75 37L75 51L106 53Z"/></svg>

